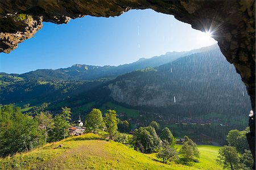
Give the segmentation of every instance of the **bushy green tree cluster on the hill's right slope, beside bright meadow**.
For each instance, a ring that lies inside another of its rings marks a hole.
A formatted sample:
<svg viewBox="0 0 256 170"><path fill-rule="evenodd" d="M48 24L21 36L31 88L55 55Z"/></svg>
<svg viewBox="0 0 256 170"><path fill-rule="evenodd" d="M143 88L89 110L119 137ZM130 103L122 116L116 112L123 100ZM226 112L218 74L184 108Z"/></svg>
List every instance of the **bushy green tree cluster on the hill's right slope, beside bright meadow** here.
<svg viewBox="0 0 256 170"><path fill-rule="evenodd" d="M133 146L143 153L158 152L156 156L162 159L164 163L169 160L179 159L178 155L180 155L183 162L190 162L195 158L199 158L199 150L196 147L196 143L187 136L184 138L183 146L177 152L174 147L176 139L170 129L166 127L160 130L158 122L152 121L149 126L134 130Z"/></svg>

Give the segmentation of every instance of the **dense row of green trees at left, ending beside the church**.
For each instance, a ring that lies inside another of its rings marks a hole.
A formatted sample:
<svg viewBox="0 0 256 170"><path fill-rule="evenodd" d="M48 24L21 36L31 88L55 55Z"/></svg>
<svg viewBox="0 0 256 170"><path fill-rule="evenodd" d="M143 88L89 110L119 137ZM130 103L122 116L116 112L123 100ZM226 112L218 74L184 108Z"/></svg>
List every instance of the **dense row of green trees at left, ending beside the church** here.
<svg viewBox="0 0 256 170"><path fill-rule="evenodd" d="M71 126L71 109L62 108L54 118L40 112L34 118L22 114L19 107L0 107L0 156L29 151L47 142L59 141L68 136Z"/></svg>

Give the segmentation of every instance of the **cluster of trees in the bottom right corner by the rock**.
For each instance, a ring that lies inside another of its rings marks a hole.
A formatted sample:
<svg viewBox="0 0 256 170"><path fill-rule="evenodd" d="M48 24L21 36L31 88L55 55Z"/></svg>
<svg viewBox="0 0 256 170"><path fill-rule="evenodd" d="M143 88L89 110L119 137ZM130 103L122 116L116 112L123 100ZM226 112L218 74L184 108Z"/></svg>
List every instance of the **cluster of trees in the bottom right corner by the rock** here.
<svg viewBox="0 0 256 170"><path fill-rule="evenodd" d="M221 147L218 151L216 162L221 164L224 169L251 169L253 167L253 156L249 151L249 146L246 140L245 130L230 130L226 141L228 146Z"/></svg>

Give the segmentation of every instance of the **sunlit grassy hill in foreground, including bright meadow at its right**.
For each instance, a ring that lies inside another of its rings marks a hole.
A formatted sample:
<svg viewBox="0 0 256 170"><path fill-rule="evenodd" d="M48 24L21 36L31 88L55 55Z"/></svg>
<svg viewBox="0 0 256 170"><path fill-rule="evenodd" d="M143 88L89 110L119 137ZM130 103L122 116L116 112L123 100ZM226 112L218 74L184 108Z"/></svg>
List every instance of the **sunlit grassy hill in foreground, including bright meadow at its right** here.
<svg viewBox="0 0 256 170"><path fill-rule="evenodd" d="M100 139L99 135L85 134L50 143L0 159L0 169L221 169L214 162L219 147L199 146L200 162L188 167L163 164L155 154L142 154L121 143ZM57 148L60 144L63 146Z"/></svg>

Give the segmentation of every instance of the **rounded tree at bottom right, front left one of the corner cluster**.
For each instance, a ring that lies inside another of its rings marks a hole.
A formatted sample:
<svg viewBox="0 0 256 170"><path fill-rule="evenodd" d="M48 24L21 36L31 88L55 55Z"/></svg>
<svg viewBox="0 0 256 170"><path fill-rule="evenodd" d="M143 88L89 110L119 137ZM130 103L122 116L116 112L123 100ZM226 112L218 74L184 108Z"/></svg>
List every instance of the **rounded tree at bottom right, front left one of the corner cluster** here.
<svg viewBox="0 0 256 170"><path fill-rule="evenodd" d="M216 162L224 169L240 169L240 159L236 147L233 146L224 146L218 150L218 156Z"/></svg>

